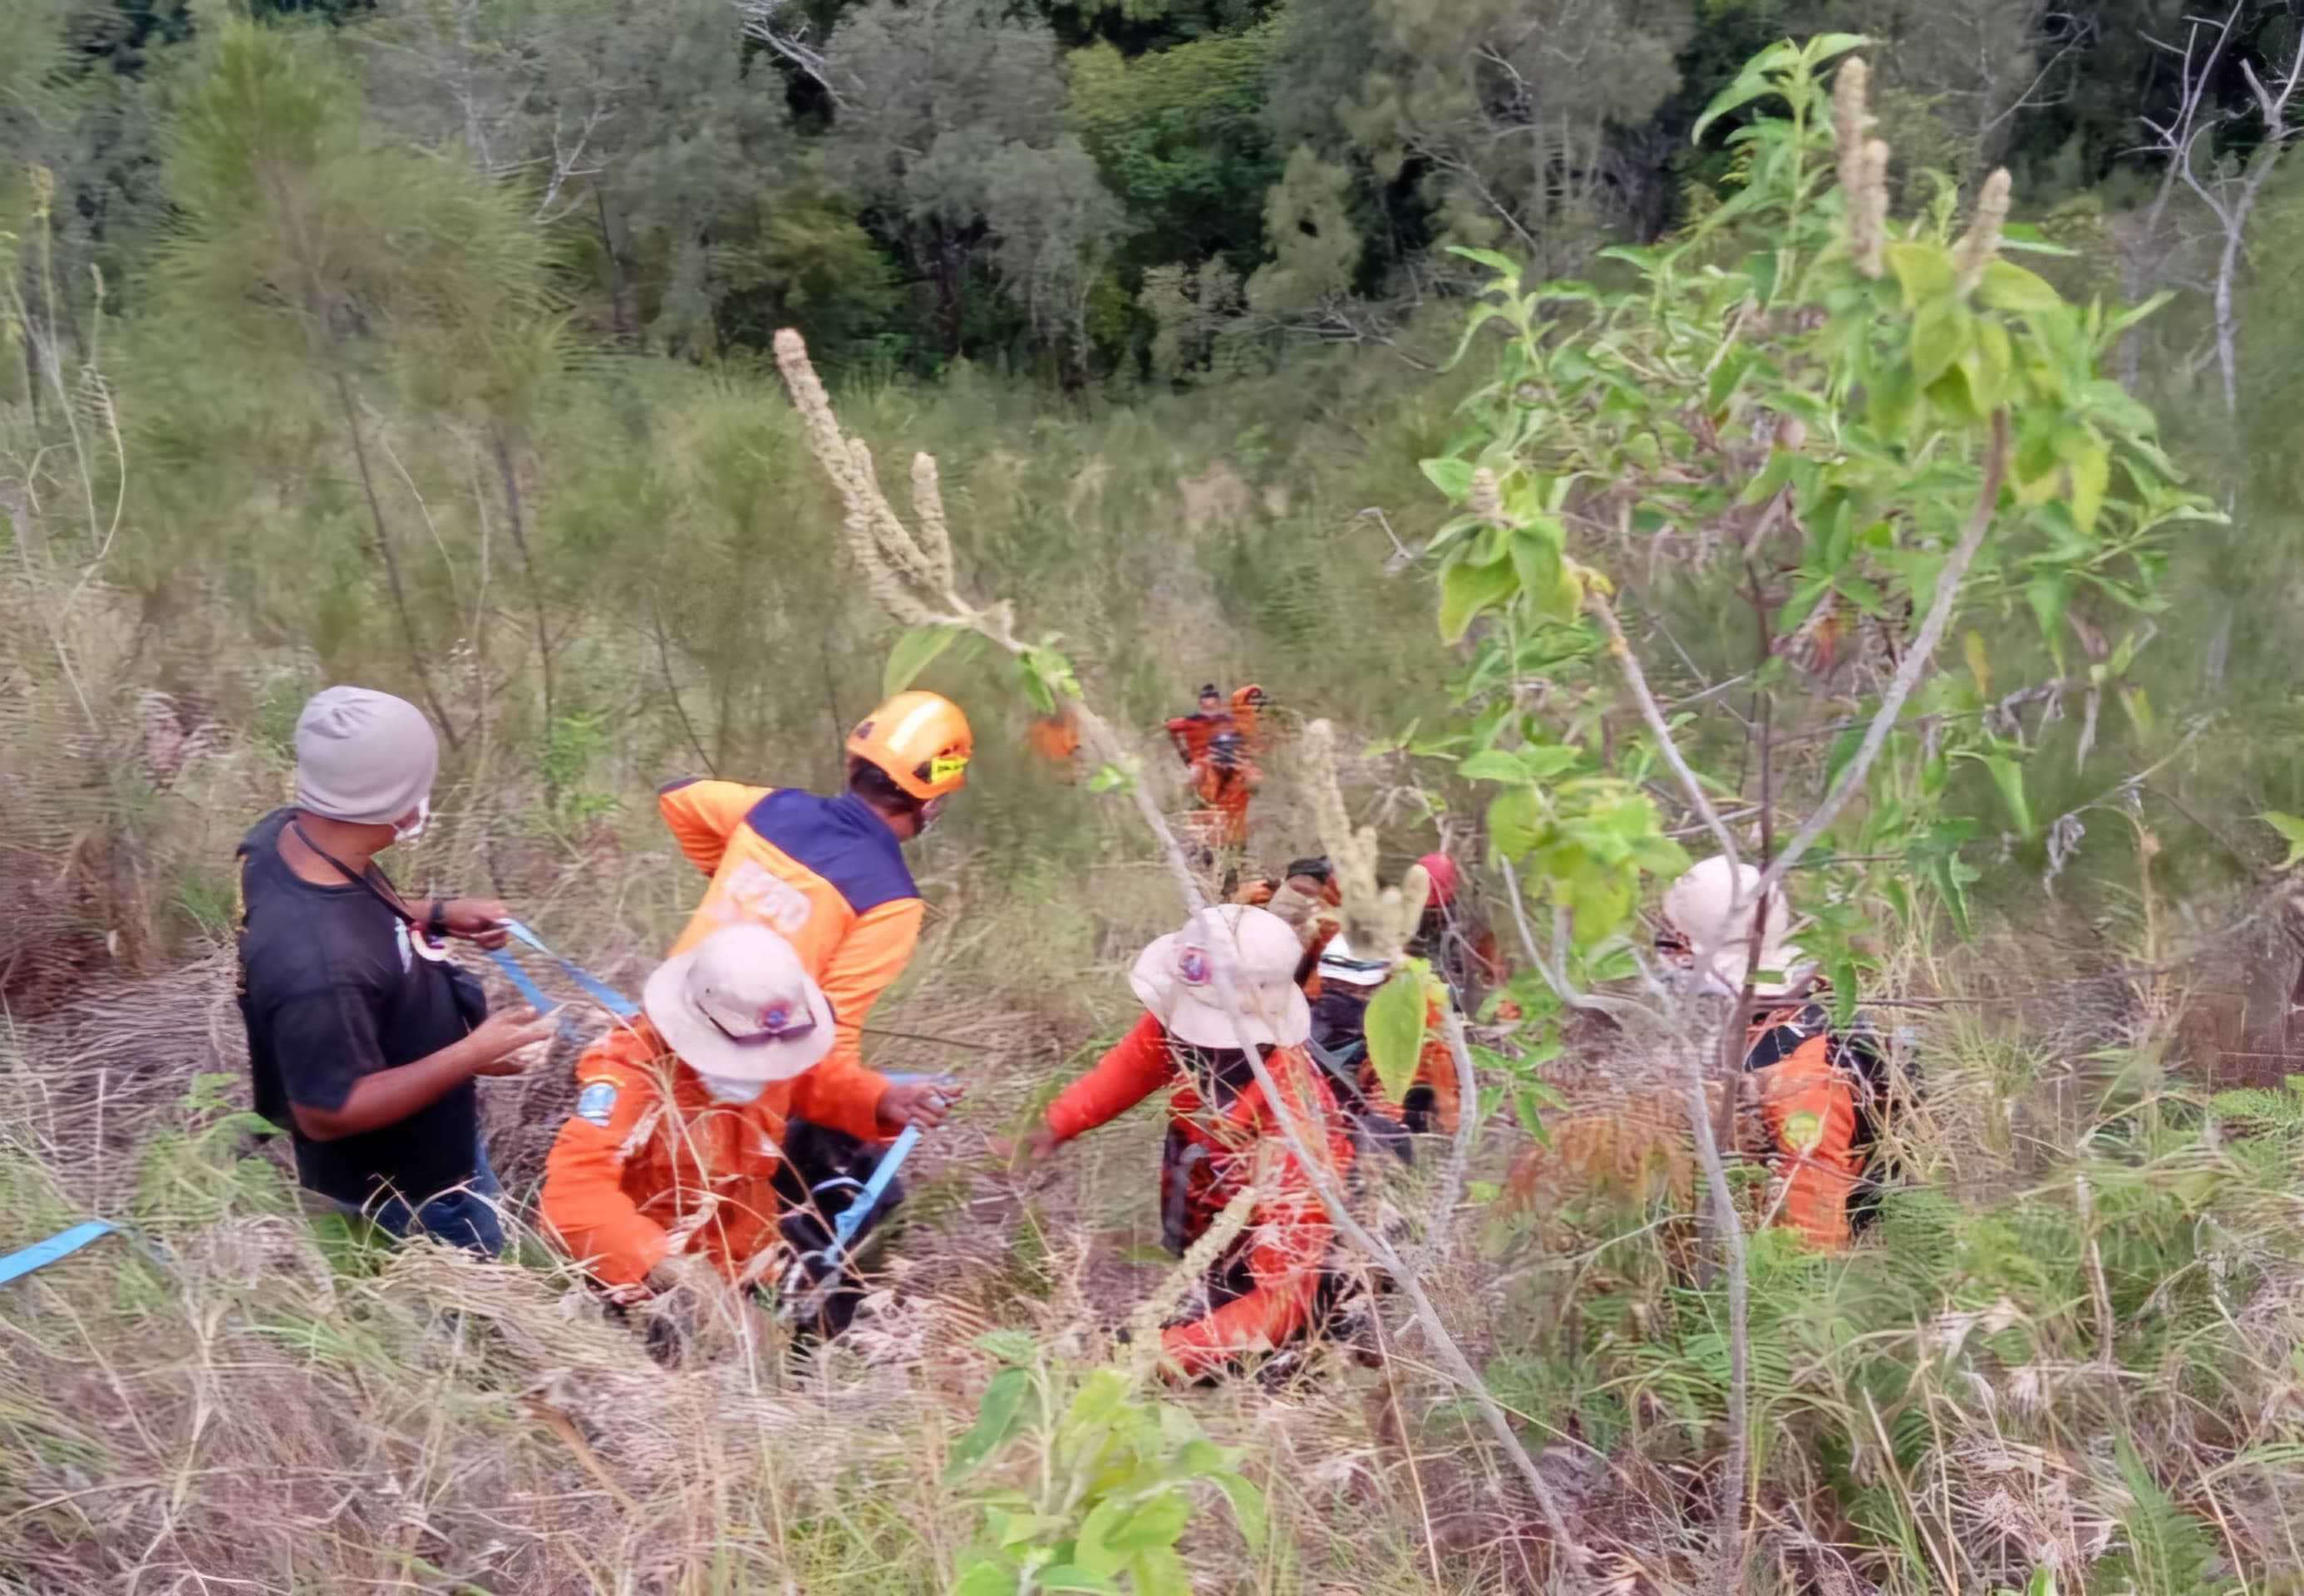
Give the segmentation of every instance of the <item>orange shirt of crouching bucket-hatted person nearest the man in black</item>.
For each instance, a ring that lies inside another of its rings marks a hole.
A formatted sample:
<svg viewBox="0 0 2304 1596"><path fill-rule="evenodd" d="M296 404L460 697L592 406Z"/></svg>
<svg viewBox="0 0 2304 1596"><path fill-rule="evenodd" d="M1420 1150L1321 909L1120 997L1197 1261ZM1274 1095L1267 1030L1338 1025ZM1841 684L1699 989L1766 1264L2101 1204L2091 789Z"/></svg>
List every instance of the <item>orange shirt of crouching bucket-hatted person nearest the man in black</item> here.
<svg viewBox="0 0 2304 1596"><path fill-rule="evenodd" d="M751 1285L776 1260L783 1126L880 1135L880 1078L827 1057L751 1103L717 1103L647 1020L576 1059L576 1112L544 1161L544 1230L601 1285L641 1285L696 1253Z"/></svg>

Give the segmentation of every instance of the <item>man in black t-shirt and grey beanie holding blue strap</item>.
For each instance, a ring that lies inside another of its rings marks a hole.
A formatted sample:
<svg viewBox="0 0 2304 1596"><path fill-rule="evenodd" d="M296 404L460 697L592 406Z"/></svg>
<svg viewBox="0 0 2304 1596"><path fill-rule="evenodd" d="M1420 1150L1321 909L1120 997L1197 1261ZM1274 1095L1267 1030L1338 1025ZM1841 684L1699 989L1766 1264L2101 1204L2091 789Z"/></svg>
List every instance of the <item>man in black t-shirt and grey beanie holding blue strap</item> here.
<svg viewBox="0 0 2304 1596"><path fill-rule="evenodd" d="M392 1234L484 1253L505 1234L475 1076L516 1076L553 1034L488 1016L445 937L502 947L491 898L401 898L373 859L431 815L440 751L389 693L332 686L295 730L297 801L240 843L240 1018L256 1112L295 1138L297 1179Z"/></svg>

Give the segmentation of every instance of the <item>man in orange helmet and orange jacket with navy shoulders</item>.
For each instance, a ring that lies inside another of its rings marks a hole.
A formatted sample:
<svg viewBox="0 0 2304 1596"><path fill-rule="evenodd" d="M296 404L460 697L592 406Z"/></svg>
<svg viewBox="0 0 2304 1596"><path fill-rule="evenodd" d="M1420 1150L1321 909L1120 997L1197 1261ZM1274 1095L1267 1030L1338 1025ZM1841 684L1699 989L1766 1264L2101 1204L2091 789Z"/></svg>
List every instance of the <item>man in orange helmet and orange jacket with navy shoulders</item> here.
<svg viewBox="0 0 2304 1596"><path fill-rule="evenodd" d="M885 1087L880 1119L894 1128L935 1128L958 1096L949 1082L889 1085L864 1071L862 1027L919 942L924 905L903 845L968 783L972 753L958 705L896 693L850 732L839 797L735 781L675 781L657 795L680 850L712 877L673 956L726 926L786 937L832 1004L832 1064Z"/></svg>

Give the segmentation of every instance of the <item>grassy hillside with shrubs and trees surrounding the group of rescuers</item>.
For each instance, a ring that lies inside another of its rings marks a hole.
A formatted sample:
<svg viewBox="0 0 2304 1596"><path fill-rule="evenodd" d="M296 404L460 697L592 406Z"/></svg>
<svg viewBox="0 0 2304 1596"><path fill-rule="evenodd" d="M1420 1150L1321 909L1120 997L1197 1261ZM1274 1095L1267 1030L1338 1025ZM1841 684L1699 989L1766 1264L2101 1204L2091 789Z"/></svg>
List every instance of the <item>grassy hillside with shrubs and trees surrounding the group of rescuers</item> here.
<svg viewBox="0 0 2304 1596"><path fill-rule="evenodd" d="M0 1285L0 1589L2292 1589L2299 88L2272 0L9 5L0 1251L120 1232ZM230 924L309 693L438 723L410 891L634 990L650 792L915 675L979 755L869 1052L970 1096L848 1336L601 1310L567 1043L505 1262L297 1202ZM1511 979L1375 1356L1184 1389L1147 1117L1002 1149L1184 914L1205 679L1251 868L1447 845ZM1723 845L1896 1057L1841 1255L1654 960Z"/></svg>

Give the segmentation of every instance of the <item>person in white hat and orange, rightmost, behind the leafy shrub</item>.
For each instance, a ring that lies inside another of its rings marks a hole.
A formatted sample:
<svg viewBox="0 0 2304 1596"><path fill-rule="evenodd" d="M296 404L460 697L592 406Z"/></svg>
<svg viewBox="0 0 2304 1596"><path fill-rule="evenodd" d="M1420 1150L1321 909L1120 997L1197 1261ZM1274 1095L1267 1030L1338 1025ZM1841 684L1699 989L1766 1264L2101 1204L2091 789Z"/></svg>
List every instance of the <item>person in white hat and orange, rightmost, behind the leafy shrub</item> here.
<svg viewBox="0 0 2304 1596"><path fill-rule="evenodd" d="M1788 940L1790 905L1769 894L1758 967L1753 907L1735 907L1760 873L1728 859L1696 861L1663 894L1659 951L1707 990L1737 997L1751 976L1742 1096L1767 1126L1769 1168L1781 1184L1779 1218L1816 1246L1848 1246L1873 1198L1866 1170L1887 1062L1864 1032L1836 1032L1825 983Z"/></svg>

